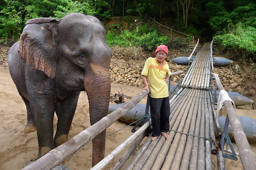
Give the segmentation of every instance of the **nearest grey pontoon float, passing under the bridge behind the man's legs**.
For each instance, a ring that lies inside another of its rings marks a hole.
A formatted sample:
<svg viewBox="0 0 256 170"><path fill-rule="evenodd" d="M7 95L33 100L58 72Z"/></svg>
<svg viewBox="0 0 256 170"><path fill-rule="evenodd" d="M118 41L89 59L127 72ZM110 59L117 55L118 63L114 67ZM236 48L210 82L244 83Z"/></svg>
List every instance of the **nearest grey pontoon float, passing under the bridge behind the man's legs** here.
<svg viewBox="0 0 256 170"><path fill-rule="evenodd" d="M108 114L115 111L116 109L118 109L119 107L121 107L124 104L125 103L109 105ZM140 118L142 118L144 116L145 109L146 109L146 104L138 103L137 105L135 105L134 108L132 108L130 111L125 113L125 115L123 115L121 118L119 118L119 120L121 120L125 123L128 123L128 124L132 124L133 122L139 120ZM150 109L149 109L149 118L151 118ZM253 118L244 117L244 116L238 116L238 119L241 122L242 128L244 130L244 133L247 137L248 142L256 143L256 120ZM219 122L221 131L223 131L224 124L225 124L225 118L222 116L218 117L218 122ZM134 124L137 124L137 122L135 122ZM232 128L230 125L228 126L228 136L230 137L231 141L234 141L234 136L232 134Z"/></svg>

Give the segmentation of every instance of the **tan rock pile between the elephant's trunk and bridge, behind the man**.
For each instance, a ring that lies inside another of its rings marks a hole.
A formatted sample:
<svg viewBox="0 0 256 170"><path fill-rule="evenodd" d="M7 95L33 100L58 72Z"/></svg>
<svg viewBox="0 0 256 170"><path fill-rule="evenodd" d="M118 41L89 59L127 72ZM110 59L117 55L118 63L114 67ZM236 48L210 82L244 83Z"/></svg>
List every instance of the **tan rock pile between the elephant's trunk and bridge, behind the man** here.
<svg viewBox="0 0 256 170"><path fill-rule="evenodd" d="M111 57L111 65L109 69L111 82L142 87L143 80L140 75L144 67L144 62L148 57L155 57L154 52L148 52L144 49L140 49L136 55L134 53L131 55L131 59L129 61L125 61L123 58L127 52L123 48L113 47L112 52L113 55ZM175 58L177 55L187 56L189 54L185 54L177 49L169 50L168 53L169 55L165 60L168 62L171 72L184 70L187 67L177 65L176 63L173 63L171 59ZM179 75L172 76L172 80L178 82Z"/></svg>

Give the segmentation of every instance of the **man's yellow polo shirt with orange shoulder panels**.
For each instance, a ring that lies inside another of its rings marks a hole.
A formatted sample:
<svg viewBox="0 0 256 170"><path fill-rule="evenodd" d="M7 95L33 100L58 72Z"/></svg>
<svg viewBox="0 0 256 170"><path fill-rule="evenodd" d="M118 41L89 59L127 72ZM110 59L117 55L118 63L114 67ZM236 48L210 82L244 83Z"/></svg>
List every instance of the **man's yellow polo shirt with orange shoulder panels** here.
<svg viewBox="0 0 256 170"><path fill-rule="evenodd" d="M165 76L170 76L171 71L166 61L163 61L163 65L160 68L160 63L156 58L148 58L145 61L145 66L142 70L141 75L148 78L148 86L151 92L150 97L163 98L168 97L168 84L165 83Z"/></svg>

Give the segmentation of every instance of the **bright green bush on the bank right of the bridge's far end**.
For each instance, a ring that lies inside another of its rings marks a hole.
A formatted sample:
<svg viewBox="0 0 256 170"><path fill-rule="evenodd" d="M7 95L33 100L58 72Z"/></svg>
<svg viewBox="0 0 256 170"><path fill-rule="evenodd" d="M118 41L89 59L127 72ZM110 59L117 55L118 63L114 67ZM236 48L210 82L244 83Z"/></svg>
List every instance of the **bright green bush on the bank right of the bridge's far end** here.
<svg viewBox="0 0 256 170"><path fill-rule="evenodd" d="M220 35L214 37L214 41L225 47L233 58L252 58L256 60L256 28L238 23L228 25Z"/></svg>

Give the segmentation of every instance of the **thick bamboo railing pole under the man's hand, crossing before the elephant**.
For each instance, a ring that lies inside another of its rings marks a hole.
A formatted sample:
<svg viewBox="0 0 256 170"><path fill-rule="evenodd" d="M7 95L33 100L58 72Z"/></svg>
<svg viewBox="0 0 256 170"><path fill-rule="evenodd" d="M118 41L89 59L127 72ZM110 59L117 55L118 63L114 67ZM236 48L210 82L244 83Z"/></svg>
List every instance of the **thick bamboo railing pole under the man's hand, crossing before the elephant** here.
<svg viewBox="0 0 256 170"><path fill-rule="evenodd" d="M125 105L116 109L114 112L102 118L100 121L85 129L75 137L71 138L62 145L51 150L45 156L36 160L34 163L28 165L22 170L45 170L52 169L55 166L59 165L65 159L67 159L71 154L77 151L81 146L84 146L86 143L95 138L99 133L108 128L111 124L117 121L121 116L125 115L126 112L131 110L141 99L148 95L147 90L141 91L139 94L134 96L130 101Z"/></svg>

